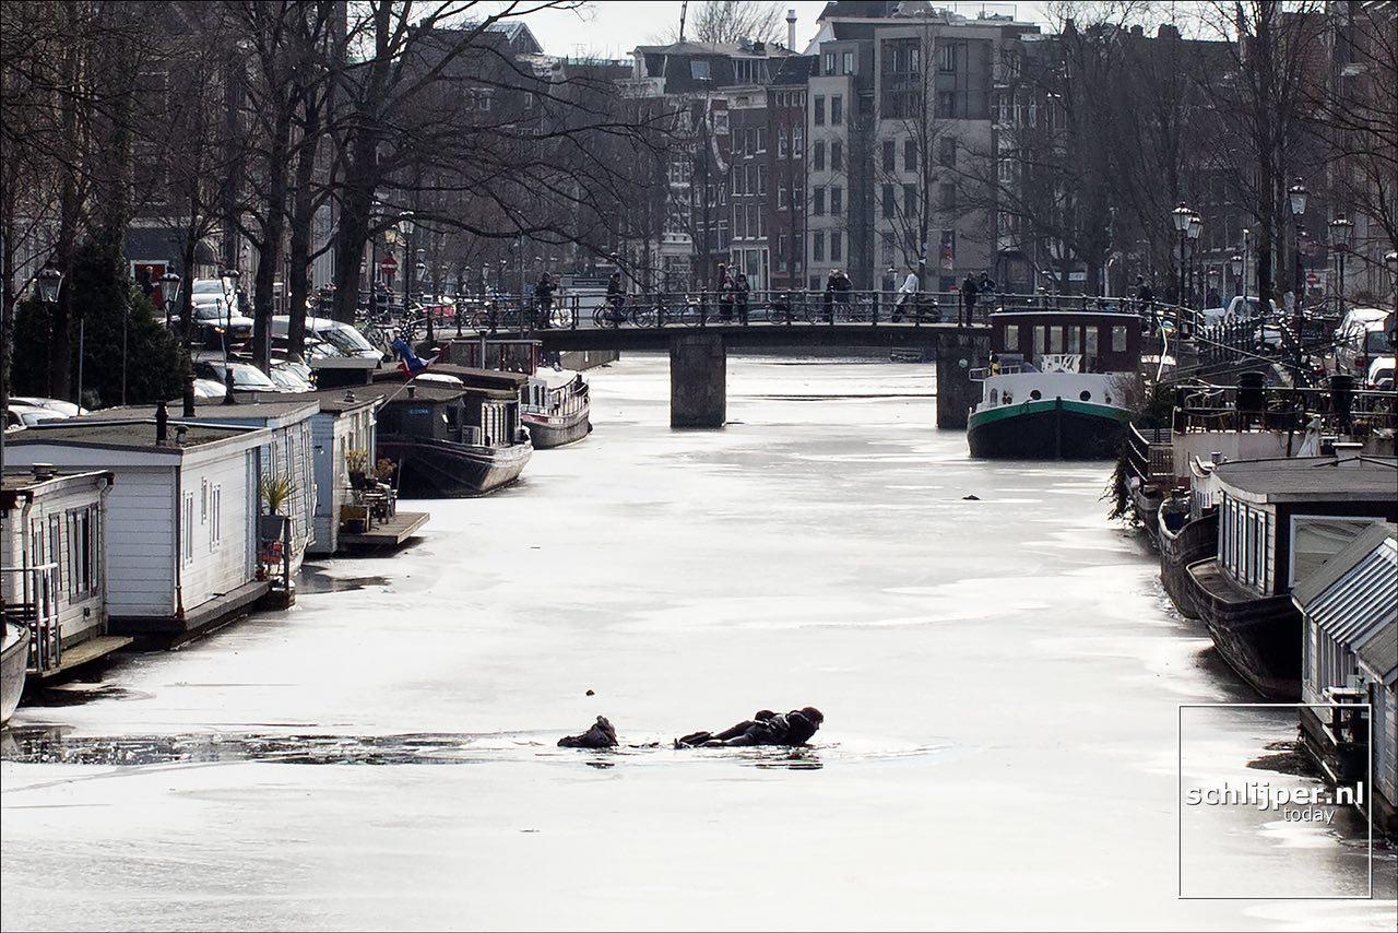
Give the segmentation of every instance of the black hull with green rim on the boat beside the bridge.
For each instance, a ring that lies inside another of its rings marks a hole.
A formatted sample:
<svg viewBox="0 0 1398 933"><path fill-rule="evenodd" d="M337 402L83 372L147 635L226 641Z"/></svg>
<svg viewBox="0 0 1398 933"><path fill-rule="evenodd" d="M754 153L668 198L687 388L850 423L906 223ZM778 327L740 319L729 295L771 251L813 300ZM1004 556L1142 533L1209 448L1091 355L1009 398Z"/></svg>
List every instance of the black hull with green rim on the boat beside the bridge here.
<svg viewBox="0 0 1398 933"><path fill-rule="evenodd" d="M1125 408L1043 399L972 411L970 455L1015 460L1102 460L1117 456L1131 414Z"/></svg>

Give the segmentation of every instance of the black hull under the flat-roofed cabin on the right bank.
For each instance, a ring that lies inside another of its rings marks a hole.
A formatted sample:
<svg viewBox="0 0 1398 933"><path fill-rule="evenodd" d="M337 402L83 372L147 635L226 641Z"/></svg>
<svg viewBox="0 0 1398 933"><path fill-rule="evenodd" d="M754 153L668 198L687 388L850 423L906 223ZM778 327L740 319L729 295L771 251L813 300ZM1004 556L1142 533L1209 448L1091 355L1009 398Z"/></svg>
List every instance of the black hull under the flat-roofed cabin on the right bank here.
<svg viewBox="0 0 1398 933"><path fill-rule="evenodd" d="M1290 594L1251 596L1229 581L1215 558L1186 569L1199 618L1219 655L1267 699L1302 698L1302 614Z"/></svg>

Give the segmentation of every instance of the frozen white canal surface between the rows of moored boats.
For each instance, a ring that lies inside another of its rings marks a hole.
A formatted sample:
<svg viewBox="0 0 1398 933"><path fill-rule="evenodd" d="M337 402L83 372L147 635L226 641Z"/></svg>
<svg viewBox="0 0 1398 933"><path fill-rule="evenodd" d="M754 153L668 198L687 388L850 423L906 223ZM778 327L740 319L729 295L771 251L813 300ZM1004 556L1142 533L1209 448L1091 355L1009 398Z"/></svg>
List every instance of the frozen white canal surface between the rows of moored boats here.
<svg viewBox="0 0 1398 933"><path fill-rule="evenodd" d="M1177 899L1177 706L1246 697L1109 467L970 462L930 371L733 358L735 422L672 432L628 358L591 438L405 554L21 709L3 926L1392 929L1391 850L1377 901ZM795 757L554 747L808 704ZM1198 754L1246 776L1293 722ZM1366 888L1348 817L1211 820L1194 871Z"/></svg>

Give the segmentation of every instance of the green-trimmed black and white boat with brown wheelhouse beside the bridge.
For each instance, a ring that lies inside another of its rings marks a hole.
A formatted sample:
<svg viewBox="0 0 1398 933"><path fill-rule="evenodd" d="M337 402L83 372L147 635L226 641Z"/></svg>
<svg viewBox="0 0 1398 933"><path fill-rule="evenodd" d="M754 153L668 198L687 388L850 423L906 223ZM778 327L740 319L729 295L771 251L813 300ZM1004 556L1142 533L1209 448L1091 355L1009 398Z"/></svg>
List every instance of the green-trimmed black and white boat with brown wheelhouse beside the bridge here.
<svg viewBox="0 0 1398 933"><path fill-rule="evenodd" d="M972 379L974 457L1104 459L1118 453L1139 396L1141 320L1110 311L990 316L991 365Z"/></svg>

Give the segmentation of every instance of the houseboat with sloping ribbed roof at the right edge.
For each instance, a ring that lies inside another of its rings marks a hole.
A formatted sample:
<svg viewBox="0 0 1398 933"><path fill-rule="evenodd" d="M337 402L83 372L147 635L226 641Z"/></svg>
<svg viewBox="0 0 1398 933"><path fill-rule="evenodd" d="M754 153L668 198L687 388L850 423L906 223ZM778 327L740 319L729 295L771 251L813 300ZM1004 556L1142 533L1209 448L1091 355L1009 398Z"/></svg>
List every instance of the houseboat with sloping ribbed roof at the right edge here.
<svg viewBox="0 0 1398 933"><path fill-rule="evenodd" d="M1398 838L1398 526L1376 523L1296 583L1302 747ZM1373 774L1370 785L1369 775Z"/></svg>

